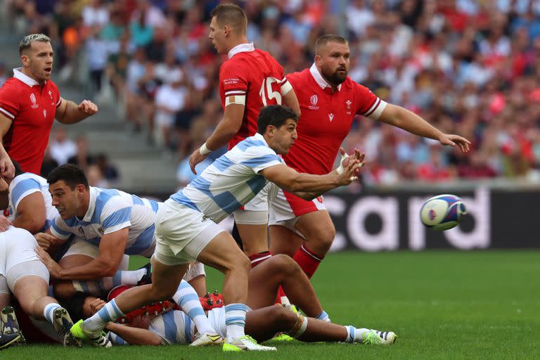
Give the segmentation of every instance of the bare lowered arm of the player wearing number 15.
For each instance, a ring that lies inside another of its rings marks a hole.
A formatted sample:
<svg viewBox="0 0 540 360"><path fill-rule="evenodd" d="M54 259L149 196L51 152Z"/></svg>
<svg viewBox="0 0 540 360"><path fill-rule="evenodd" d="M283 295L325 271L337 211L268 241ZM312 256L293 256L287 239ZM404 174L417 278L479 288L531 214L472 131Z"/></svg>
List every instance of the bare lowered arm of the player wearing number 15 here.
<svg viewBox="0 0 540 360"><path fill-rule="evenodd" d="M197 174L195 165L205 160L208 154L221 148L221 146L224 146L233 139L233 136L238 134L238 130L240 130L240 126L242 125L244 108L245 105L240 104L229 104L225 107L223 118L217 124L210 138L208 138L203 146L193 151L189 158L189 166L193 174Z"/></svg>

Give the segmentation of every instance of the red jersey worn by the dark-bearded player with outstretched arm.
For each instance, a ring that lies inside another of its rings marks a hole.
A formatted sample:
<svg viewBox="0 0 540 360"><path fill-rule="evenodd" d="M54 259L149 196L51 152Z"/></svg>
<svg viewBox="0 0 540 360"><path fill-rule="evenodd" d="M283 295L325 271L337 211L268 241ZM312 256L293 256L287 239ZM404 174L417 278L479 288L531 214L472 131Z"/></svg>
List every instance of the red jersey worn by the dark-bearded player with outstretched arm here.
<svg viewBox="0 0 540 360"><path fill-rule="evenodd" d="M385 101L347 77L333 93L315 64L287 75L300 102L298 139L283 159L290 167L309 174L328 174L355 115L377 120Z"/></svg>

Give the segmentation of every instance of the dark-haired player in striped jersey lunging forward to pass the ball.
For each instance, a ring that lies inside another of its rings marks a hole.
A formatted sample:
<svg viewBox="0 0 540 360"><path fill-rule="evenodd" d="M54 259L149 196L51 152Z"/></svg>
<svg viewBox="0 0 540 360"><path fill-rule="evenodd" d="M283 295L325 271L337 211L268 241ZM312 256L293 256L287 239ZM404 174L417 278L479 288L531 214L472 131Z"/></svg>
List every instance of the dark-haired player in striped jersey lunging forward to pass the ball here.
<svg viewBox="0 0 540 360"><path fill-rule="evenodd" d="M257 131L207 167L186 188L160 207L155 220L156 248L152 285L131 288L97 314L77 323L71 332L101 343L103 327L143 304L167 300L178 288L189 262L198 260L223 272L226 341L224 351L271 351L245 335L250 260L217 223L248 203L273 182L304 198L316 198L356 179L363 156L352 156L342 172L300 174L278 154L287 153L295 139L297 115L281 105L259 113Z"/></svg>

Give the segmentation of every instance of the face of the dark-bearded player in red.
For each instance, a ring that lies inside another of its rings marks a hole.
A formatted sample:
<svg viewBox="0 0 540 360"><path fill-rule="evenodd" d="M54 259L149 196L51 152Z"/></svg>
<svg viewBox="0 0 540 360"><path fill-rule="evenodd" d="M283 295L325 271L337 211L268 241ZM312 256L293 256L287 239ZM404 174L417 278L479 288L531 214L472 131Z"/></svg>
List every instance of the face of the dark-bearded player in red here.
<svg viewBox="0 0 540 360"><path fill-rule="evenodd" d="M349 44L330 41L326 44L321 56L316 56L315 60L319 60L321 75L324 79L337 86L344 82L349 74L349 56Z"/></svg>

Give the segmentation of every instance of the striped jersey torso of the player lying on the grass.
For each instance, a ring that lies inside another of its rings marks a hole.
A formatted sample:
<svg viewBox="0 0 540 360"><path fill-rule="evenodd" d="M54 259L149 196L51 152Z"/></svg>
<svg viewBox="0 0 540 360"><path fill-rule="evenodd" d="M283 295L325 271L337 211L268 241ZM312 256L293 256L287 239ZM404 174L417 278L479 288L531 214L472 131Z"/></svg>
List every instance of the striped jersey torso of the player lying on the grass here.
<svg viewBox="0 0 540 360"><path fill-rule="evenodd" d="M171 310L150 321L148 330L162 339L163 345L191 344L195 324L184 311Z"/></svg>

